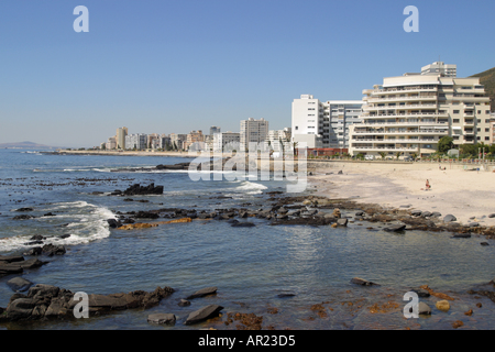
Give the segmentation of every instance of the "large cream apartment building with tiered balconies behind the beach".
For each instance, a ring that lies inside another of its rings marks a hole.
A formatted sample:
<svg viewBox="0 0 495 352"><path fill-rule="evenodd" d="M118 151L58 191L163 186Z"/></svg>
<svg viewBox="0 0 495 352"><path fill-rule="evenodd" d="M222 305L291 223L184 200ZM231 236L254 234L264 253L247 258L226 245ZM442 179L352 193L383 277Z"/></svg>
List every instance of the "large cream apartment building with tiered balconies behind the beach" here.
<svg viewBox="0 0 495 352"><path fill-rule="evenodd" d="M405 74L363 95L362 123L351 128L352 155L429 156L444 135L455 145L490 141L490 98L480 78Z"/></svg>

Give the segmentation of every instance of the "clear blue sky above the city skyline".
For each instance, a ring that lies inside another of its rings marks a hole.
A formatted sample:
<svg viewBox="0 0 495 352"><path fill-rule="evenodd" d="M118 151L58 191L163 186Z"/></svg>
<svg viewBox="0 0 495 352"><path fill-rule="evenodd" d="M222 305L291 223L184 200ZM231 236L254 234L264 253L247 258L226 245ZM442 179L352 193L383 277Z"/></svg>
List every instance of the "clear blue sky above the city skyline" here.
<svg viewBox="0 0 495 352"><path fill-rule="evenodd" d="M76 33L77 6L89 32ZM406 33L407 6L419 32ZM495 66L495 2L2 0L0 143L99 145L130 133L290 125L290 103L361 99L438 61Z"/></svg>

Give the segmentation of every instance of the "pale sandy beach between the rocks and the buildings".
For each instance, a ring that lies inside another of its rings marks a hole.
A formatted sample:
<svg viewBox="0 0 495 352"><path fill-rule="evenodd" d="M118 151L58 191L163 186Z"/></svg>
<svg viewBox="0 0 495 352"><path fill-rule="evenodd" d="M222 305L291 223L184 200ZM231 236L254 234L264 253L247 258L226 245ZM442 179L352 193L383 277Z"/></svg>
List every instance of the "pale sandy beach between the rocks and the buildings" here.
<svg viewBox="0 0 495 352"><path fill-rule="evenodd" d="M442 217L453 215L463 224L495 226L495 218L488 218L495 213L495 173L442 166L447 169L440 170L435 163L332 163L318 168L309 183L330 198L355 197L356 202L386 208L410 206L411 210L439 211ZM343 174L338 175L339 170Z"/></svg>

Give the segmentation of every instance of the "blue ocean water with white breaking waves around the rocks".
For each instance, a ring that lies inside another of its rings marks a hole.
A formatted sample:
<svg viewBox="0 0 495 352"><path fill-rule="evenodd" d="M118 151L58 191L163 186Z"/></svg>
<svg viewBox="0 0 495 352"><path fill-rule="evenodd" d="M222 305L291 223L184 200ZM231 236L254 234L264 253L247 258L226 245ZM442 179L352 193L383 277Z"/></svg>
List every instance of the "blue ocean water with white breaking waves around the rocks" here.
<svg viewBox="0 0 495 352"><path fill-rule="evenodd" d="M43 256L50 263L25 271L24 278L74 293L152 292L157 286L173 287L176 293L147 310L131 309L70 321L0 324L0 329L237 328L235 323L226 324L226 315L218 321L184 326L189 312L209 304L223 306L224 314L263 316L263 327L275 329L450 329L455 320L464 322L463 329L494 326L494 302L466 294L495 277L495 243L476 235L453 240L446 232L394 234L380 228L370 231L367 227L377 224L359 221L345 229L274 227L255 218L249 219L256 224L254 228L195 220L145 230L109 229L107 219L116 218L117 211L258 209L273 202L266 191L286 188L285 182L274 180L193 182L185 172L112 172L188 161L1 150L0 255L26 251L33 245L25 243L35 234L47 237L45 243L67 248L63 256ZM165 186L164 194L130 197L134 201L108 196L132 184L150 183ZM14 211L24 207L33 211ZM44 216L48 212L55 217ZM35 218L13 220L18 215ZM353 217L353 212L344 216ZM70 237L59 239L62 234ZM491 245L481 246L480 242L485 241ZM356 276L381 286L350 284ZM7 307L13 294L7 286L10 278L0 278L0 307ZM430 297L421 300L433 308L431 317L405 319L402 308L407 301L403 297L420 285L454 297L451 310L436 310L438 299ZM193 300L190 307L177 306L180 298L208 286L217 286L218 294ZM278 297L286 293L294 296ZM483 308L477 308L477 302ZM317 304L323 304L323 315L311 309ZM395 309L372 312L376 305ZM474 310L471 317L463 314L469 309ZM173 312L177 323L147 323L146 317L154 312Z"/></svg>

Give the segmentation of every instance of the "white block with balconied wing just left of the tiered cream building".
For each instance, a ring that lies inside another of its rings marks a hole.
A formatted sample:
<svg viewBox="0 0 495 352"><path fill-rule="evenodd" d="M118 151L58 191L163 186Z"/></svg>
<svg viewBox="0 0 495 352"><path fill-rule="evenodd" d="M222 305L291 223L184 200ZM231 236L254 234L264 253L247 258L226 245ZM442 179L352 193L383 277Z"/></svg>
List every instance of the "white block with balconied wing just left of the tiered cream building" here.
<svg viewBox="0 0 495 352"><path fill-rule="evenodd" d="M362 100L315 99L301 95L294 99L292 140L309 148L348 148L350 127L361 122Z"/></svg>

